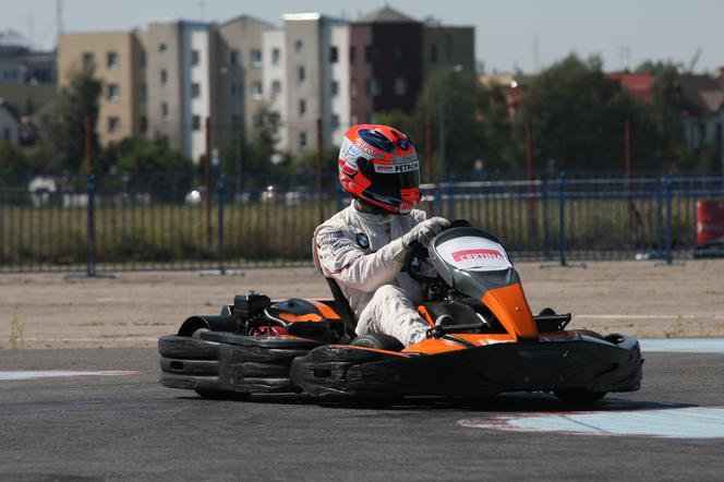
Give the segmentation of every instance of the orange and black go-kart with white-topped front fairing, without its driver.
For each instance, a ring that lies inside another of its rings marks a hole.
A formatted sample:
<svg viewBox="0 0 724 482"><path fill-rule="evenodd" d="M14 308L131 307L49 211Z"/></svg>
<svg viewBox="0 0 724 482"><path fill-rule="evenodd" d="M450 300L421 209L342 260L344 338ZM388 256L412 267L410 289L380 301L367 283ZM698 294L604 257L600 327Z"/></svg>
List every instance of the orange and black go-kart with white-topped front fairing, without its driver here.
<svg viewBox="0 0 724 482"><path fill-rule="evenodd" d="M639 389L638 340L565 329L569 313L533 315L518 273L490 233L455 222L427 249L413 249L405 269L422 284L419 313L430 324L415 345L355 337L353 313L328 279L331 300L273 302L250 292L219 315L188 318L177 335L159 338L160 382L224 398L487 398L524 390L587 403Z"/></svg>

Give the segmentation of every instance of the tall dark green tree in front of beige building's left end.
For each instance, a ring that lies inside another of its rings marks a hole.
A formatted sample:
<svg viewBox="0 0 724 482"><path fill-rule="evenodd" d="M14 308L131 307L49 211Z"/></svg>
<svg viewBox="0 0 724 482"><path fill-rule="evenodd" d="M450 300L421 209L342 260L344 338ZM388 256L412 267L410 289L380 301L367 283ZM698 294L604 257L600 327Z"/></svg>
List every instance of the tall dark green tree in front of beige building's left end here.
<svg viewBox="0 0 724 482"><path fill-rule="evenodd" d="M53 112L43 119L43 130L55 153L51 166L71 172L82 171L85 159L85 121L90 117L92 145L98 152L95 131L98 99L102 89L94 77L94 69L71 72L70 82L60 91Z"/></svg>

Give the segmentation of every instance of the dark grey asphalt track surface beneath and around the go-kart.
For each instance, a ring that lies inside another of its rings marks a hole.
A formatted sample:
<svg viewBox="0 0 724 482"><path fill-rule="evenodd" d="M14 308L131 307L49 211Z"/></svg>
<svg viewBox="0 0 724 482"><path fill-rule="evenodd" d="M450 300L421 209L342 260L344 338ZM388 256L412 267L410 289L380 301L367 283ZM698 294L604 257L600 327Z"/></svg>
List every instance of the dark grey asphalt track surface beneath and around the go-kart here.
<svg viewBox="0 0 724 482"><path fill-rule="evenodd" d="M722 480L724 353L644 357L641 391L594 409L547 395L382 408L204 400L158 385L153 349L5 350L0 480ZM131 373L16 379L29 370ZM647 435L652 414L685 437ZM624 415L630 435L586 421Z"/></svg>

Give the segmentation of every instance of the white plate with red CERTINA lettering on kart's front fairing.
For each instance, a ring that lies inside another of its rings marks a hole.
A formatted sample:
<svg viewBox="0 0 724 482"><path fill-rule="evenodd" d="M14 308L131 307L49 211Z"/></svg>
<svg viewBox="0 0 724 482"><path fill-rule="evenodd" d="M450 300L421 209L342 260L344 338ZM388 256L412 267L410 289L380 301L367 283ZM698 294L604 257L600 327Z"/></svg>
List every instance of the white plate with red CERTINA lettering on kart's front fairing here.
<svg viewBox="0 0 724 482"><path fill-rule="evenodd" d="M443 261L458 269L498 272L512 267L503 246L495 241L463 236L436 246Z"/></svg>

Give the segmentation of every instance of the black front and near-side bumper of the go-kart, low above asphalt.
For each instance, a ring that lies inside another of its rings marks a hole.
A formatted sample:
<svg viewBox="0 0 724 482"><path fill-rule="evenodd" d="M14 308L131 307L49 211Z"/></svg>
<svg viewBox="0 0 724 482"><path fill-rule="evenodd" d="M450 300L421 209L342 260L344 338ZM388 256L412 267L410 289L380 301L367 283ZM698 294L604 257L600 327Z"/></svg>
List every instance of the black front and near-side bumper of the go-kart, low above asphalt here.
<svg viewBox="0 0 724 482"><path fill-rule="evenodd" d="M319 397L632 391L642 363L634 337L507 342L427 356L329 345L294 359L291 382Z"/></svg>

